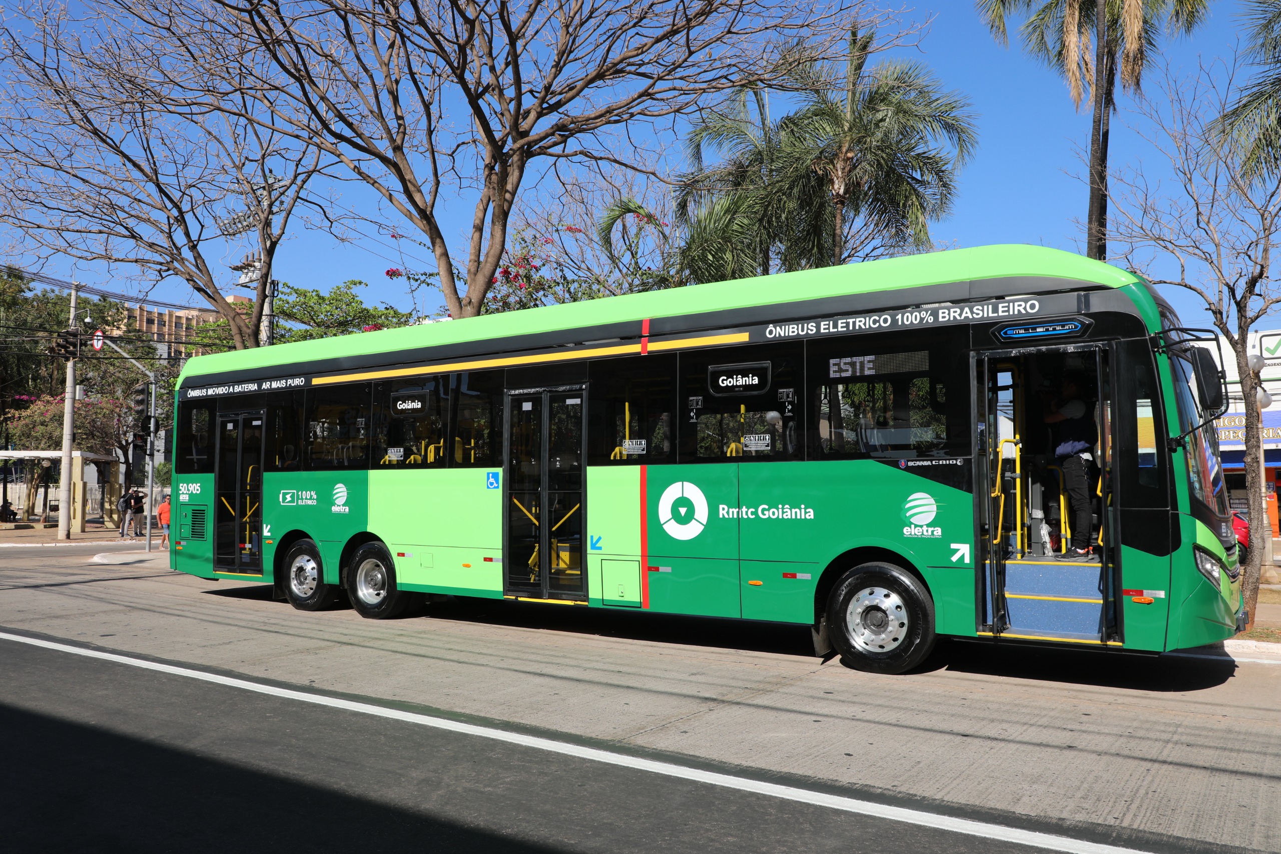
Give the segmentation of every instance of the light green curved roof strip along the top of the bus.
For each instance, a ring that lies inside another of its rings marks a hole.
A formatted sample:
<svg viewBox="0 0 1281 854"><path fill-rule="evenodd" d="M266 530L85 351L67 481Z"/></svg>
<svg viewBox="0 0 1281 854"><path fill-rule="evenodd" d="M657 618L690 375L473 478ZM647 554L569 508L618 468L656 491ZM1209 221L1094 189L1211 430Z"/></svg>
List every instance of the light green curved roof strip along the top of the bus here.
<svg viewBox="0 0 1281 854"><path fill-rule="evenodd" d="M822 267L796 273L690 285L644 294L626 294L584 303L566 303L502 314L424 323L272 347L233 350L190 359L182 377L237 372L319 359L364 356L465 341L501 340L646 318L761 306L828 296L893 291L985 278L1048 276L1090 286L1123 287L1143 280L1118 267L1044 246L1007 244L953 249L922 255Z"/></svg>

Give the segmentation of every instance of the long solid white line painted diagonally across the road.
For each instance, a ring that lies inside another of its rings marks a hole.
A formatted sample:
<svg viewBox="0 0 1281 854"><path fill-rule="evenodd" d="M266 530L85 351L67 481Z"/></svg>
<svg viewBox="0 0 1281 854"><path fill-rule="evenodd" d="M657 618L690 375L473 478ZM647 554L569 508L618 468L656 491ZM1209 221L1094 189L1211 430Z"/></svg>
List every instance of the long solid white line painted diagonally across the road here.
<svg viewBox="0 0 1281 854"><path fill-rule="evenodd" d="M757 795L769 795L771 798L780 798L783 800L792 800L815 807L828 807L829 809L839 809L842 812L854 813L858 816L871 816L874 818L906 822L908 825L918 825L921 827L933 827L935 830L951 831L953 833L965 833L967 836L1015 842L1017 845L1027 845L1029 848L1040 848L1050 851L1065 851L1066 854L1138 854L1138 849L1132 848L1103 845L1099 842L1070 839L1067 836L1057 836L1054 833L1040 833L1036 831L1004 827L1003 825L991 825L968 818L956 818L953 816L938 816L920 809L890 807L886 804L876 804L870 800L843 798L840 795L829 795L826 792L810 791L807 789L797 789L794 786L781 786L779 783L762 782L758 780L749 780L747 777L734 777L731 774L722 774L712 771L687 768L684 766L676 766L667 762L628 757L619 753L610 753L608 750L600 750L597 748L553 741L552 739L541 739L538 736L506 732L503 730L450 721L447 718L437 718L428 714L388 709L370 703L355 703L352 700L306 694L304 691L292 691L290 689L275 687L272 685L259 685L257 682L251 682L249 680L238 680L229 676L219 676L216 673L204 673L186 667L159 664L156 662L129 658L128 655L117 655L114 653L82 649L78 646L56 644L54 641L38 640L35 637L23 637L22 635L0 632L0 640L9 640L15 644L28 644L31 646L58 650L60 653L70 653L73 655L83 655L85 658L96 658L104 662L114 662L117 664L128 664L129 667L155 671L158 673L168 673L170 676L183 676L186 678L200 680L202 682L213 682L214 685L241 689L243 691L254 691L255 694L266 694L269 696L278 696L287 700L311 703L313 705L324 705L332 709L343 709L345 712L357 712L360 714L371 714L374 717L389 718L392 721L404 721L405 723L416 723L437 730L445 730L447 732L457 732L460 735L491 739L493 741L505 741L523 748L547 750L548 753L559 753L566 757L575 757L578 759L620 766L623 768L633 768L637 771L647 771L665 777L690 780L693 782L720 786L722 789L734 789Z"/></svg>

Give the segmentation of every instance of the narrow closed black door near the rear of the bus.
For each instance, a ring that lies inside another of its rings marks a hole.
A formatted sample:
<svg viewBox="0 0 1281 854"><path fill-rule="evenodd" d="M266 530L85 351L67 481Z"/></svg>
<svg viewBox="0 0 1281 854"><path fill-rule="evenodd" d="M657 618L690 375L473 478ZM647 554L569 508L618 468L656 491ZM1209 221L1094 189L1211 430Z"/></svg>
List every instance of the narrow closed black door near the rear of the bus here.
<svg viewBox="0 0 1281 854"><path fill-rule="evenodd" d="M263 574L263 413L218 417L214 568Z"/></svg>

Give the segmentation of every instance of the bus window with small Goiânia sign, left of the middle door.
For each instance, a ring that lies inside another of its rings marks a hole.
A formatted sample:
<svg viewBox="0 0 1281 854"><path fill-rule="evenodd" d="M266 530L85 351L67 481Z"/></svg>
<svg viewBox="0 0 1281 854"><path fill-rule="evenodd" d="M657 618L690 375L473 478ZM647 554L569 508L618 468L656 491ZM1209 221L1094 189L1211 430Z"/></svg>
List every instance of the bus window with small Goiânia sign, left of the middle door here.
<svg viewBox="0 0 1281 854"><path fill-rule="evenodd" d="M375 382L370 468L443 468L443 401L439 377Z"/></svg>

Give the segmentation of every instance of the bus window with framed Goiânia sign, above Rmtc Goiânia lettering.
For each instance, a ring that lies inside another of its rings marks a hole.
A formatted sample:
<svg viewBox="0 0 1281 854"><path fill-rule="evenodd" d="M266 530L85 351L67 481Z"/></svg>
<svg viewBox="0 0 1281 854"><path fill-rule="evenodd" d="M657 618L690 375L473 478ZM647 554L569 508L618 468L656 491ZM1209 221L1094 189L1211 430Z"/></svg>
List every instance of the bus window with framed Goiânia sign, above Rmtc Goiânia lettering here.
<svg viewBox="0 0 1281 854"><path fill-rule="evenodd" d="M804 459L802 354L801 344L683 353L680 462Z"/></svg>

